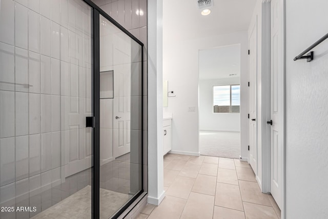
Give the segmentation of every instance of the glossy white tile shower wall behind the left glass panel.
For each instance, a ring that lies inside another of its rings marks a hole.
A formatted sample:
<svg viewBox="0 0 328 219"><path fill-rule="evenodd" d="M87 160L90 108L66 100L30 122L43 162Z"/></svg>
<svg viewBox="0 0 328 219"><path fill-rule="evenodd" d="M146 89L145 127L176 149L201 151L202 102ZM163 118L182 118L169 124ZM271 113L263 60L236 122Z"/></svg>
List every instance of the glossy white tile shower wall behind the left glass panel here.
<svg viewBox="0 0 328 219"><path fill-rule="evenodd" d="M0 4L0 205L37 207L0 218L29 218L90 180L91 10L80 0Z"/></svg>

